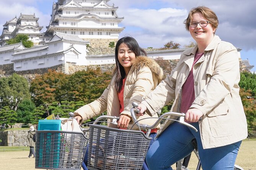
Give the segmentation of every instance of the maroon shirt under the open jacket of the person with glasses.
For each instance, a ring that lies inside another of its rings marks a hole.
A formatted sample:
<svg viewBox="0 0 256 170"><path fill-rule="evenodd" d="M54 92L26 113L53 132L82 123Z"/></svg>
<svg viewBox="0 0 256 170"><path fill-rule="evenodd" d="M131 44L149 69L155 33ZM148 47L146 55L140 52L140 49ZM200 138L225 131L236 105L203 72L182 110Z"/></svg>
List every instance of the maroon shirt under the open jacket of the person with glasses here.
<svg viewBox="0 0 256 170"><path fill-rule="evenodd" d="M196 53L191 71L189 72L188 78L182 86L180 109L182 113L186 113L195 100L193 67L194 64L202 57L202 55L204 55L204 53Z"/></svg>

